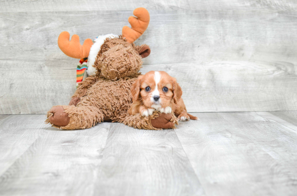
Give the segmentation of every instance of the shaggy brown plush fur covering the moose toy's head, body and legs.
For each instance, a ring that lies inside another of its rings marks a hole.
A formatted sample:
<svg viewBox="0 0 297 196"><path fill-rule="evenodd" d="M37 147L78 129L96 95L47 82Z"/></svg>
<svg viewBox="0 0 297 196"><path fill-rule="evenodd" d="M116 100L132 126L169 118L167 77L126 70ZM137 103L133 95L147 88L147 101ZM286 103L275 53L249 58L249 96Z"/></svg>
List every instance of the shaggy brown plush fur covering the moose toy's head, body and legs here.
<svg viewBox="0 0 297 196"><path fill-rule="evenodd" d="M51 111L48 111L45 122L51 123L53 127L66 130L90 128L103 120L121 122L138 129L175 128L174 124L177 124L178 119L173 113L166 117L169 122L167 125L159 126L158 122L164 122L165 118L162 117L163 121L156 120L155 124L157 123L158 126L154 127L152 120L158 118L158 112L149 117L142 117L140 114L130 116L127 112L132 104L130 87L140 75L138 71L142 66L139 51L143 51L145 47L145 44L135 46L134 43L128 43L121 36L113 39L107 38L95 61L96 75L88 76L79 83L72 96L72 98L79 98L80 101L77 103L72 99L70 104L75 103L76 106L63 105L64 111L59 108L56 114L53 113L53 109L57 106L54 106ZM66 126L58 126L53 120L53 115L55 119L58 119L57 115L62 118L65 114L68 114L70 120L61 120L66 123L69 121L69 123Z"/></svg>

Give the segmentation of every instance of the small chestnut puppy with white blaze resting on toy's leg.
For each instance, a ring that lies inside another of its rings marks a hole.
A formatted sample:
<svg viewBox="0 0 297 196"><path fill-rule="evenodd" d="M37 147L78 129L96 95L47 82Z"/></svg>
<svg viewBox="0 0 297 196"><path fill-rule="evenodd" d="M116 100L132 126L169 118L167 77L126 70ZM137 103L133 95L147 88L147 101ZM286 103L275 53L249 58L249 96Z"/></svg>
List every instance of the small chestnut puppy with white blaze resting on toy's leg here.
<svg viewBox="0 0 297 196"><path fill-rule="evenodd" d="M132 101L128 110L130 115L140 113L142 116L153 112L174 112L180 121L199 120L187 113L182 100L182 88L176 79L163 71L150 71L141 75L131 86Z"/></svg>

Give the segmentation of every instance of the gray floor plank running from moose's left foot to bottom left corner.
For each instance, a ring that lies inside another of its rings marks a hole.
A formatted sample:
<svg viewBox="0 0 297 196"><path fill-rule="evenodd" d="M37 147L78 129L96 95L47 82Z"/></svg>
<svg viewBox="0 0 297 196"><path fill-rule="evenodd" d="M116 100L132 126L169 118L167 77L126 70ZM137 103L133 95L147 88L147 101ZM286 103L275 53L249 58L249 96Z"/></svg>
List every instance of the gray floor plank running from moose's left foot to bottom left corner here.
<svg viewBox="0 0 297 196"><path fill-rule="evenodd" d="M0 177L0 195L93 195L110 124L44 130Z"/></svg>

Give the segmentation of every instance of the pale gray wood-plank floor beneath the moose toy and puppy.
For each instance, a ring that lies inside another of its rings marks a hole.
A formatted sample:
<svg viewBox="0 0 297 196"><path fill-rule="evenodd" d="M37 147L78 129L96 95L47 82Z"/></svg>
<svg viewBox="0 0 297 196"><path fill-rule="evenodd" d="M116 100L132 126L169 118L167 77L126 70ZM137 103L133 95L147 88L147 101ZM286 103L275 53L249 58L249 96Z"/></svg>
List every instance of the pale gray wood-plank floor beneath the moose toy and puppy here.
<svg viewBox="0 0 297 196"><path fill-rule="evenodd" d="M74 131L0 115L0 195L296 195L297 111L192 114Z"/></svg>

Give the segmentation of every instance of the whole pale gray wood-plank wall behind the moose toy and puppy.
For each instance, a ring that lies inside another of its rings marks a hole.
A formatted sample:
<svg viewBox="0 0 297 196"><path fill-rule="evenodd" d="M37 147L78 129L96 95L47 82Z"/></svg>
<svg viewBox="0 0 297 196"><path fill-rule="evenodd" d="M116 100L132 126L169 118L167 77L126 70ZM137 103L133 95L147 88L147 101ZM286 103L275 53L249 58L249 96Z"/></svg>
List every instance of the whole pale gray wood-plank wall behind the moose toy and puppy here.
<svg viewBox="0 0 297 196"><path fill-rule="evenodd" d="M60 32L81 43L120 34L134 8L151 21L135 43L152 53L142 72L177 78L189 112L297 110L297 2L0 0L0 114L44 114L68 104L77 59Z"/></svg>

